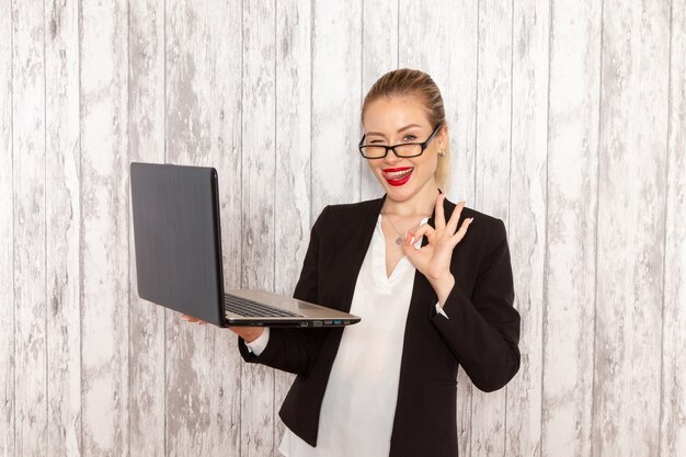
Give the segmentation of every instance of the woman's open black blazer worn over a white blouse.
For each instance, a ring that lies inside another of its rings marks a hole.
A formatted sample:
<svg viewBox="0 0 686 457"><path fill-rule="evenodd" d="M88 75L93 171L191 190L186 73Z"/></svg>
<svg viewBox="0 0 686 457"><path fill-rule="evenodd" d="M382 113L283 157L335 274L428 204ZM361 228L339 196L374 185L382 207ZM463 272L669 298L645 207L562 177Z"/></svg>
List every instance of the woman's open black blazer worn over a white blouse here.
<svg viewBox="0 0 686 457"><path fill-rule="evenodd" d="M294 297L350 311L384 199L323 209L312 227ZM444 209L447 220L455 204L446 199ZM513 308L505 226L501 219L465 207L458 227L468 217L475 219L450 263L455 287L444 306L449 319L436 313L436 294L424 275L418 271L414 277L391 435L393 457L457 455L458 366L483 391L502 388L519 368L519 315ZM433 215L428 224L435 227ZM259 357L239 339L245 362L298 375L279 415L312 446L343 331L273 328Z"/></svg>

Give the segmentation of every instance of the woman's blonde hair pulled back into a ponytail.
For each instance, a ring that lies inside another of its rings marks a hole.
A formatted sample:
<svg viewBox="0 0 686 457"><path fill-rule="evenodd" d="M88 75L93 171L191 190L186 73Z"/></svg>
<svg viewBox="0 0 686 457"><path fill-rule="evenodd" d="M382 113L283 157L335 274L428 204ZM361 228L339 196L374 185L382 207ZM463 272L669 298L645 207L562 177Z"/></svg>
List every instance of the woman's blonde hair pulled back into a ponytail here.
<svg viewBox="0 0 686 457"><path fill-rule="evenodd" d="M441 124L442 129L447 128L443 98L438 85L427 73L409 68L389 71L376 80L362 104L361 121L364 122L365 111L369 103L381 98L390 99L393 96L416 98L426 110L426 116L432 128L438 124ZM438 187L445 193L450 179L450 145L445 145L444 151L445 156L438 157L434 179Z"/></svg>

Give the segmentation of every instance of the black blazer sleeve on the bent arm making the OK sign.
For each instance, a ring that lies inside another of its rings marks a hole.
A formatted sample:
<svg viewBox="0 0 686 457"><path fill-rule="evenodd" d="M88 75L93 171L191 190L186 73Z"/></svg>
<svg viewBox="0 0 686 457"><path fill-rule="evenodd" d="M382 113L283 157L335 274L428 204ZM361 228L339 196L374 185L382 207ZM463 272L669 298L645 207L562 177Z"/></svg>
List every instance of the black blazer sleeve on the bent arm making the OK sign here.
<svg viewBox="0 0 686 457"><path fill-rule="evenodd" d="M504 387L519 369L519 313L513 304L506 230L496 219L471 297L456 284L443 307L449 319L430 311L448 349L482 391Z"/></svg>

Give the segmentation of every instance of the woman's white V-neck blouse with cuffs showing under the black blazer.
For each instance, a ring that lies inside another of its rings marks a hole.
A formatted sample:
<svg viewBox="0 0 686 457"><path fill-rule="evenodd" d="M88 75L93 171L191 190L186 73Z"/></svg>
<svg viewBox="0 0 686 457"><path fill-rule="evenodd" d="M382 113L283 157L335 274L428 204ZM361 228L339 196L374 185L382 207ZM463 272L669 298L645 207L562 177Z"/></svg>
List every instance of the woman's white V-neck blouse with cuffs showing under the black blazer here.
<svg viewBox="0 0 686 457"><path fill-rule="evenodd" d="M421 224L426 221L424 218ZM415 243L420 247L421 239ZM386 275L386 240L379 215L351 304L350 312L363 319L343 332L322 400L317 447L286 429L279 446L284 456L389 454L414 274L414 266L402 256L390 277ZM438 304L436 310L443 313ZM259 355L267 342L265 329L248 347Z"/></svg>

